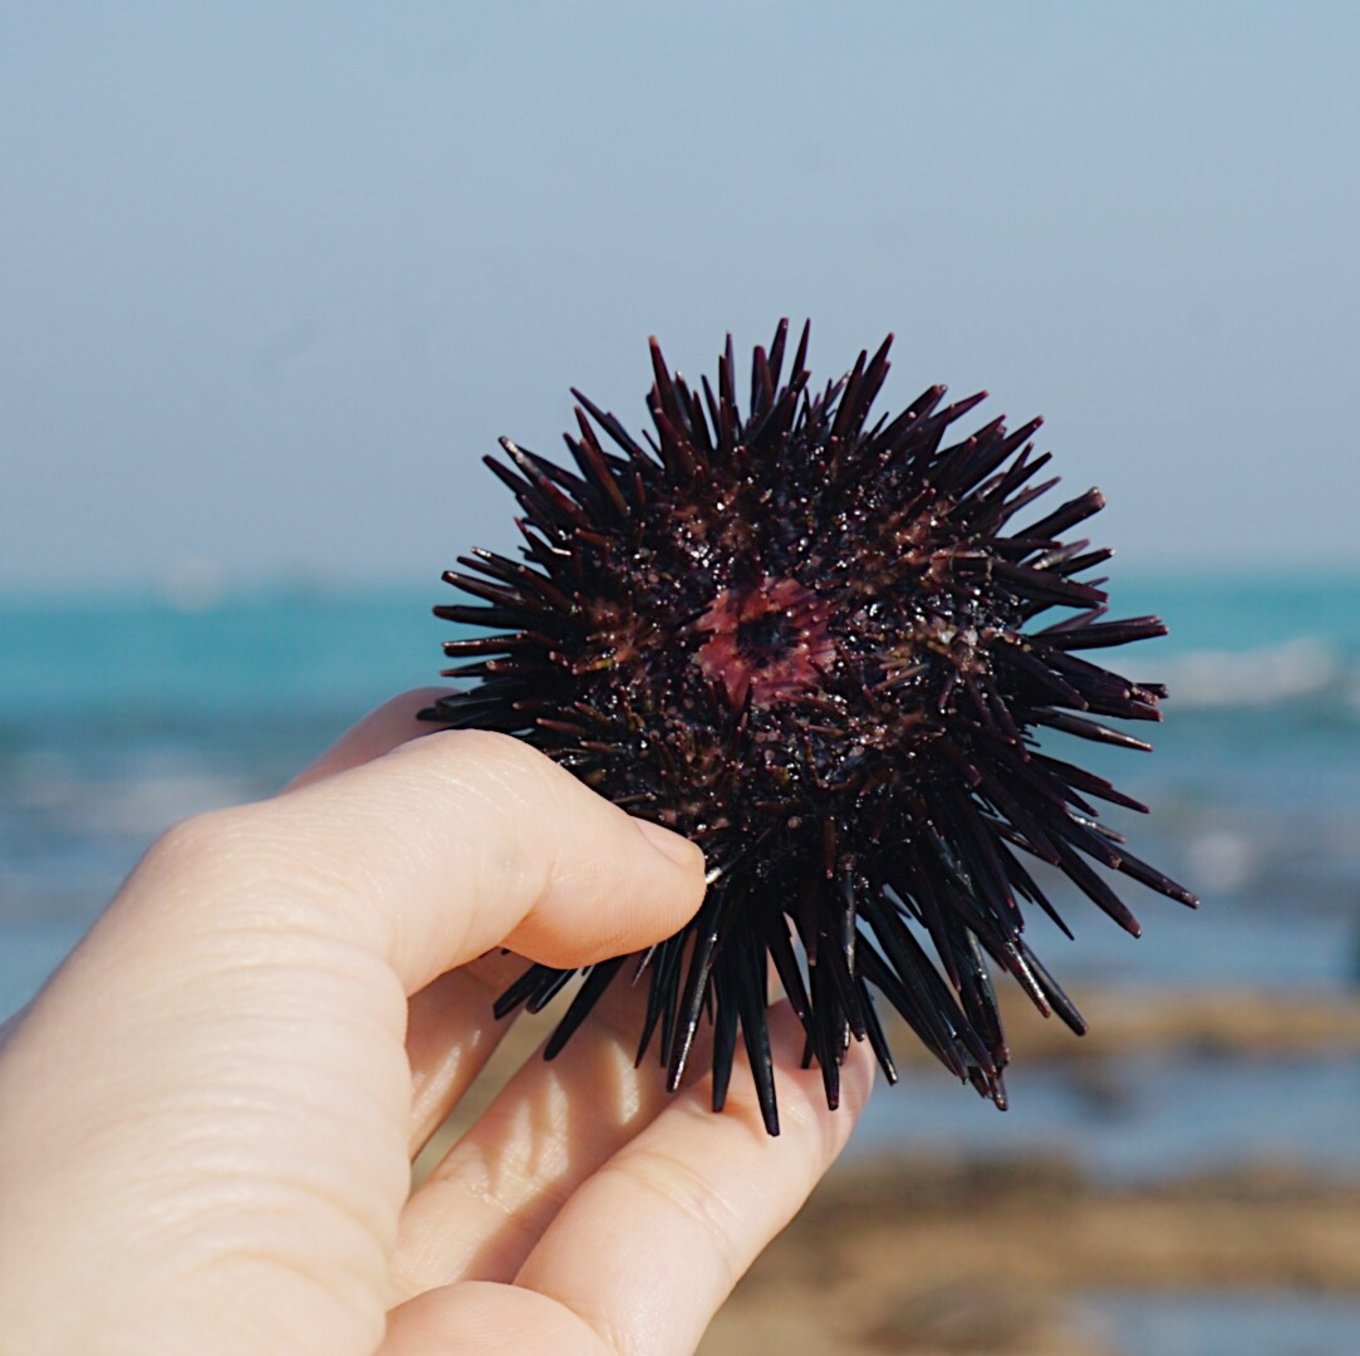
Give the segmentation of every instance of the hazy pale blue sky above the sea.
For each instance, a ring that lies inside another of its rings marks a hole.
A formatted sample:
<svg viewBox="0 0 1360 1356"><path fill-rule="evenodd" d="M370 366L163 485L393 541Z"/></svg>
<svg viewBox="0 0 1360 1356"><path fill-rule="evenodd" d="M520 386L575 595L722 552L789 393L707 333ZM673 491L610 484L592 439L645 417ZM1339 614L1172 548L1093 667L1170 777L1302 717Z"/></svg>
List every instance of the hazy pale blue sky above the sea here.
<svg viewBox="0 0 1360 1356"><path fill-rule="evenodd" d="M0 588L435 575L646 337L898 335L1127 569L1357 566L1360 11L5 5Z"/></svg>

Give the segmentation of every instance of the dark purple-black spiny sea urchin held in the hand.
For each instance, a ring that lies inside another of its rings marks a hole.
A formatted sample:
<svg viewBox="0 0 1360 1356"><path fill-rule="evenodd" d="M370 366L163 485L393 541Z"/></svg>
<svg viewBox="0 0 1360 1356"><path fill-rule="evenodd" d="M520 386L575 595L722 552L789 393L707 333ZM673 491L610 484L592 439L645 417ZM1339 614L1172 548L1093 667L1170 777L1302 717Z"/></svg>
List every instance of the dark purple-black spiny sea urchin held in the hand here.
<svg viewBox="0 0 1360 1356"><path fill-rule="evenodd" d="M528 740L709 861L694 921L590 967L549 1057L627 966L647 985L639 1061L657 1039L677 1087L707 1016L721 1110L740 1031L777 1134L772 960L831 1106L851 1036L895 1077L874 990L1005 1106L991 966L1084 1030L1023 938L1019 900L1066 932L1023 858L1065 872L1132 933L1092 862L1195 902L1125 851L1091 801L1144 807L1036 739L1146 748L1098 718L1157 719L1166 691L1078 651L1164 627L1102 620L1103 581L1078 575L1110 552L1059 540L1099 491L1010 530L1055 483L1035 483L1039 420L947 443L985 393L944 405L932 386L870 423L891 336L820 392L806 326L782 379L786 339L783 322L755 350L745 413L730 337L702 394L653 341L643 442L579 392L574 471L502 439L509 464L487 461L524 510L524 559L476 551L460 560L472 573L446 574L481 603L438 615L491 634L445 646L465 661L446 676L475 681L424 714ZM496 1012L537 1011L570 978L532 966Z"/></svg>

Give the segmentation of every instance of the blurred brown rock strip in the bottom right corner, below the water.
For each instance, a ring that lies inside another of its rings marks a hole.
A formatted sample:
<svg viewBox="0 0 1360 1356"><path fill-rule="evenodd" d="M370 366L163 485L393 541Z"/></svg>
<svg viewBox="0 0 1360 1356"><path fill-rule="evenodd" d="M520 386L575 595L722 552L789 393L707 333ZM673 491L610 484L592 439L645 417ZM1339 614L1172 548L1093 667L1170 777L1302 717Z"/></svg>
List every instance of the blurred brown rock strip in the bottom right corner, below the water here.
<svg viewBox="0 0 1360 1356"><path fill-rule="evenodd" d="M1108 1187L1059 1159L834 1171L737 1287L703 1356L1111 1356L1084 1292L1360 1295L1360 1182L1288 1164Z"/></svg>

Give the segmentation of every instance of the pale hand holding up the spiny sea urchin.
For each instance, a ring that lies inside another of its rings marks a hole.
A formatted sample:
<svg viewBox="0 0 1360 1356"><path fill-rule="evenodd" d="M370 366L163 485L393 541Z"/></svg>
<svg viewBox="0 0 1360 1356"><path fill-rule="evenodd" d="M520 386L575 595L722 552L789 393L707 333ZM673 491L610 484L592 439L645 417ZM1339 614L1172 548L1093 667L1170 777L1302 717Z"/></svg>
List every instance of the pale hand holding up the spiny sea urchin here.
<svg viewBox="0 0 1360 1356"><path fill-rule="evenodd" d="M0 1353L681 1353L845 1144L771 1013L668 1096L622 983L409 1196L522 962L660 940L698 849L525 745L389 703L282 796L171 830L0 1053ZM411 743L407 743L411 740ZM481 959L479 959L481 957ZM413 997L411 997L413 996Z"/></svg>

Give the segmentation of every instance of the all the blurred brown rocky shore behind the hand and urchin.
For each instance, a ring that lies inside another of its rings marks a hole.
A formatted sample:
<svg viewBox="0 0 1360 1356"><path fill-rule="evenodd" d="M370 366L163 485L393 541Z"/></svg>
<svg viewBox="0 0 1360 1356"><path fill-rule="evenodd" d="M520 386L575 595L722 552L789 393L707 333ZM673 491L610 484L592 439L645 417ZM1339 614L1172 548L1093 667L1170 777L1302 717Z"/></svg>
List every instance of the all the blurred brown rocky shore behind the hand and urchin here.
<svg viewBox="0 0 1360 1356"><path fill-rule="evenodd" d="M1017 1064L1062 1068L1098 1089L1133 1054L1360 1053L1360 998L1346 994L1110 987L1074 997L1091 1023L1080 1039L1023 1000L1008 1002ZM515 1026L465 1115L549 1026L551 1015ZM929 1061L910 1032L891 1039L906 1068ZM1360 1074L1356 1087L1360 1111ZM457 1133L450 1125L441 1145ZM1337 1178L1306 1164L1300 1145L1292 1159L1127 1185L1057 1155L851 1145L733 1292L700 1353L1121 1356L1118 1333L1091 1321L1083 1296L1360 1298L1360 1168Z"/></svg>

